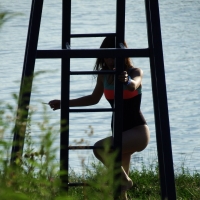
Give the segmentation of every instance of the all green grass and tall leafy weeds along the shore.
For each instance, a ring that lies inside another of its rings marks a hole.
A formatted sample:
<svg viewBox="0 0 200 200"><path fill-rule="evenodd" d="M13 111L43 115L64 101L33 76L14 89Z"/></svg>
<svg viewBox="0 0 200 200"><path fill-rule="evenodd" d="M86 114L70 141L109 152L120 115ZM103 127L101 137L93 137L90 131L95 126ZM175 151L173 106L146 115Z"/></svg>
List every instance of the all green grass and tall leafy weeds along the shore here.
<svg viewBox="0 0 200 200"><path fill-rule="evenodd" d="M16 95L13 96L17 99ZM32 140L31 124L34 110L29 111L27 120L25 148L22 156L18 157L15 165L9 163L11 143L3 136L15 121L16 111L11 105L0 103L0 197L1 200L110 200L112 199L112 163L109 169L92 160L88 166L83 166L82 174L69 171L69 182L84 182L89 186L70 187L68 192L63 190L60 176L65 172L59 171L59 164L55 163L53 147L55 140L55 124L50 124L44 107L43 120L37 123L41 131L39 145ZM9 113L9 114L8 114ZM89 127L91 129L91 127ZM91 132L91 130L89 131ZM145 159L145 158L144 158ZM80 162L82 162L80 160ZM154 162L154 163L153 163ZM130 170L130 178L134 185L128 191L129 199L157 200L160 199L160 180L158 164L152 161L149 166ZM190 173L184 165L175 174L176 192L178 200L200 199L200 173Z"/></svg>

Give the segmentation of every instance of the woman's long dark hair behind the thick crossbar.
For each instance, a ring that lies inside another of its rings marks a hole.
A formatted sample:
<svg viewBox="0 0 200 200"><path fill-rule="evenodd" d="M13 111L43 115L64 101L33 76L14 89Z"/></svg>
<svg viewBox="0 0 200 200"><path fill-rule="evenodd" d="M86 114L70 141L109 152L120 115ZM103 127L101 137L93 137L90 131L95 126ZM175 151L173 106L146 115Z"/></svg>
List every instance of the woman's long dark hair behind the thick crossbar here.
<svg viewBox="0 0 200 200"><path fill-rule="evenodd" d="M128 48L126 42L124 41L124 46ZM115 48L115 37L109 36L106 37L100 48ZM130 58L125 58L125 70L128 70L129 68L132 68L133 64L131 62ZM97 58L94 70L108 70L108 66L106 65L104 58Z"/></svg>

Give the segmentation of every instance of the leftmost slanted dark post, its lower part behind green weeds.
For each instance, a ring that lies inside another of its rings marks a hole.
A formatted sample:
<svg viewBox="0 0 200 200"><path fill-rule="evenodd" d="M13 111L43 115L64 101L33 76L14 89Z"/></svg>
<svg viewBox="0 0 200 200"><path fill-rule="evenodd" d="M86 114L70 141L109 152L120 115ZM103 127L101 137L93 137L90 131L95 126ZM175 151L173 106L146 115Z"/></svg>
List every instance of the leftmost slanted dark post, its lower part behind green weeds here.
<svg viewBox="0 0 200 200"><path fill-rule="evenodd" d="M24 65L21 78L21 86L18 100L17 119L14 128L13 146L11 152L11 164L18 156L22 155L26 122L28 118L28 106L30 103L35 58L42 16L43 0L33 0L29 20L29 29L26 41ZM22 125L23 122L23 125ZM23 127L22 127L23 126Z"/></svg>

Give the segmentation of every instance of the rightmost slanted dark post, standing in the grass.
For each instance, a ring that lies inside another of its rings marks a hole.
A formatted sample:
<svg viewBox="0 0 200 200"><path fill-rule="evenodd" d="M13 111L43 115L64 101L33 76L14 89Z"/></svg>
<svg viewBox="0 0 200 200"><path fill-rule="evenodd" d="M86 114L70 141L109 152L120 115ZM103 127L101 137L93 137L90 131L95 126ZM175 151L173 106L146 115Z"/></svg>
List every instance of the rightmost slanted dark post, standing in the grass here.
<svg viewBox="0 0 200 200"><path fill-rule="evenodd" d="M146 0L162 199L176 199L158 0Z"/></svg>

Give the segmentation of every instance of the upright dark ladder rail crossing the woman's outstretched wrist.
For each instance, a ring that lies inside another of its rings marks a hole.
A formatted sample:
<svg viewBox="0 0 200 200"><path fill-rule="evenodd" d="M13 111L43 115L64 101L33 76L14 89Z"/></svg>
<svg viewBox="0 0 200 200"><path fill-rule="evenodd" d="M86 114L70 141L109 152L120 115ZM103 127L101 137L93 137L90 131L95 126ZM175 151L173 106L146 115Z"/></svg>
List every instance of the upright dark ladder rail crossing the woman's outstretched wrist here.
<svg viewBox="0 0 200 200"><path fill-rule="evenodd" d="M62 1L62 49L70 45L71 33L71 0ZM60 133L60 169L65 171L61 176L63 188L68 190L69 170L69 91L70 91L70 58L61 59L61 133Z"/></svg>

